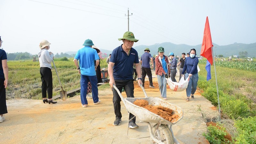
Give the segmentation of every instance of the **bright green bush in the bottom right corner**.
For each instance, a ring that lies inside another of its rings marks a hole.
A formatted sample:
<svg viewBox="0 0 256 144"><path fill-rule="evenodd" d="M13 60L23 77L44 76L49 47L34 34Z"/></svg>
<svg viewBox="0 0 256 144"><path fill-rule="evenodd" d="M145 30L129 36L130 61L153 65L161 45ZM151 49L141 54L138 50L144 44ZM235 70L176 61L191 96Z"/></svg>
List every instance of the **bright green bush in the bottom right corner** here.
<svg viewBox="0 0 256 144"><path fill-rule="evenodd" d="M235 122L236 144L256 144L256 117L249 116Z"/></svg>

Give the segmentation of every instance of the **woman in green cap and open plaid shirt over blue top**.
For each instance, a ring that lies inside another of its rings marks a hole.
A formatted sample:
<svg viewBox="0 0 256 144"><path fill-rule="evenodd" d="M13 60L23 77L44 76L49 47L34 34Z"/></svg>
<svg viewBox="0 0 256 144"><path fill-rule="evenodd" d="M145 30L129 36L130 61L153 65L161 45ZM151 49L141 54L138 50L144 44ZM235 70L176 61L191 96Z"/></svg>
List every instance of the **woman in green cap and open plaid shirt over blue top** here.
<svg viewBox="0 0 256 144"><path fill-rule="evenodd" d="M164 55L164 48L158 48L158 56L156 56L156 75L157 75L157 82L160 90L160 96L167 100L166 98L166 79L170 76L170 67L168 57Z"/></svg>

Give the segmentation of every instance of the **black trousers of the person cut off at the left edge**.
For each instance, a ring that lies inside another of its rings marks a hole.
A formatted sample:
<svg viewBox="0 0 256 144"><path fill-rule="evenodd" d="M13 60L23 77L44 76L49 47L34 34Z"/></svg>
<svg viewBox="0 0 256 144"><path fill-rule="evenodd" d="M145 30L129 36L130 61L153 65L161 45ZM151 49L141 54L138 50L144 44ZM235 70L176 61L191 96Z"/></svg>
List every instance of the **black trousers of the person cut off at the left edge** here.
<svg viewBox="0 0 256 144"><path fill-rule="evenodd" d="M4 79L0 79L0 115L7 113Z"/></svg>

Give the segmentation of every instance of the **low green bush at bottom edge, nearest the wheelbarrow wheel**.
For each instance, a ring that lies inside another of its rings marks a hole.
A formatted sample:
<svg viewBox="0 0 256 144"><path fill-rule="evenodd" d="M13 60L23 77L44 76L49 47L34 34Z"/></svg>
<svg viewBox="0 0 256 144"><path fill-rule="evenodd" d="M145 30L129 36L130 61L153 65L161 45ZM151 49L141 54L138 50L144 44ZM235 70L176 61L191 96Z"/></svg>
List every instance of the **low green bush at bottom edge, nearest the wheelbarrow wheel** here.
<svg viewBox="0 0 256 144"><path fill-rule="evenodd" d="M207 130L208 133L203 133L203 136L210 142L210 144L231 143L231 141L225 138L227 135L225 127L218 124L216 126L210 125L207 127Z"/></svg>

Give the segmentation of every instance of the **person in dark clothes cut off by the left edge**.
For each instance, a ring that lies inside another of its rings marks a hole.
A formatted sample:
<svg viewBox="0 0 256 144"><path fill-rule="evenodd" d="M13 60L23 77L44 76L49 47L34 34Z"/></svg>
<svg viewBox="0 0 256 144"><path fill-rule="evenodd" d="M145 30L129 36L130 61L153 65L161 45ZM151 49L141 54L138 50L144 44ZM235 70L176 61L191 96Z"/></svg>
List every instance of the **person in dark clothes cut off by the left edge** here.
<svg viewBox="0 0 256 144"><path fill-rule="evenodd" d="M0 36L0 47L2 46L2 43L3 41L1 40ZM3 114L7 114L5 88L8 84L7 55L2 49L0 49L0 58L0 123L2 123L5 120Z"/></svg>

